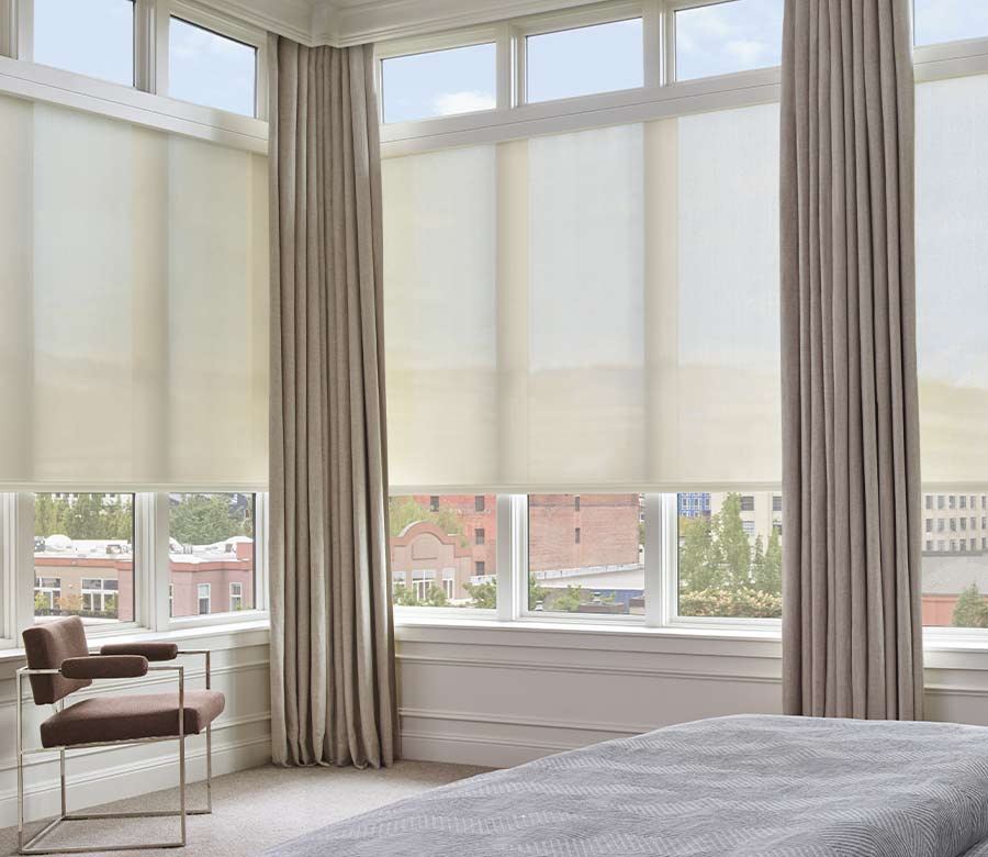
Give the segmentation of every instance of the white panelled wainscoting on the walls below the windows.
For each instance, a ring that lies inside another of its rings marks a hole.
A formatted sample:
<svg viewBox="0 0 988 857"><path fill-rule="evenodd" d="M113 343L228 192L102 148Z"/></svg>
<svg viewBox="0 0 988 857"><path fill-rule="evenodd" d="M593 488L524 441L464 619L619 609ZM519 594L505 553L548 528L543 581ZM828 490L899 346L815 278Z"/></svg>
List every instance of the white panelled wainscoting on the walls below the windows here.
<svg viewBox="0 0 988 857"><path fill-rule="evenodd" d="M181 645L213 650L214 687L226 693L213 735L214 771L263 765L270 759L267 632L207 633ZM781 711L779 644L770 637L496 623L403 624L397 637L403 755L409 759L505 767L671 723ZM931 650L927 663L928 716L988 725L988 652ZM15 820L16 666L0 663L0 826ZM193 659L187 678L190 686L201 683ZM173 686L173 679L157 677L130 682L134 692ZM85 693L122 687L104 682ZM48 709L29 704L26 711L25 735L36 737ZM202 738L191 739L192 780L204 775L203 749ZM168 744L80 750L69 757L68 770L70 808L167 788L178 778ZM57 811L57 776L56 756L32 760L29 817ZM193 790L191 800L200 795Z"/></svg>

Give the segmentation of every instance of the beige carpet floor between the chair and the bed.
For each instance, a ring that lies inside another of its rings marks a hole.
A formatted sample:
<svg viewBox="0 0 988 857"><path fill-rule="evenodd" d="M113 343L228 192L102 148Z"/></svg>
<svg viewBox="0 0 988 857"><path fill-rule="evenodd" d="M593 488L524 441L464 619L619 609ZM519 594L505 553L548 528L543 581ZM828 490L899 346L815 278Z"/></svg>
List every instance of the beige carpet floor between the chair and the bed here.
<svg viewBox="0 0 988 857"><path fill-rule="evenodd" d="M189 817L189 844L184 849L126 850L112 854L116 857L260 855L266 848L307 831L484 770L486 769L424 761L400 761L385 770L273 766L252 768L213 780L213 814ZM193 806L202 800L202 789L198 784L187 794ZM93 809L166 810L175 808L177 802L177 790L169 789ZM71 809L71 792L69 806ZM41 824L32 824L29 833L40 827ZM45 847L78 846L114 842L161 842L177 836L177 819L116 819L67 822L43 843ZM14 854L15 848L15 828L0 830L0 854Z"/></svg>

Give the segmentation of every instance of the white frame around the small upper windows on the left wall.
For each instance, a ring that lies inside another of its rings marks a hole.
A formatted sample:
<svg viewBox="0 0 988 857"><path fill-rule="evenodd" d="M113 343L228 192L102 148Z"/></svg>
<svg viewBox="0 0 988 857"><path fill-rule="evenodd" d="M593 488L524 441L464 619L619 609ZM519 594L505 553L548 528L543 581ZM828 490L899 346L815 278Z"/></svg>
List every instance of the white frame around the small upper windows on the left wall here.
<svg viewBox="0 0 988 857"><path fill-rule="evenodd" d="M0 0L0 94L267 154L268 43L262 30L192 0L136 0L135 85L123 86L32 62L33 2ZM168 91L168 19L172 14L258 49L256 118L164 94Z"/></svg>

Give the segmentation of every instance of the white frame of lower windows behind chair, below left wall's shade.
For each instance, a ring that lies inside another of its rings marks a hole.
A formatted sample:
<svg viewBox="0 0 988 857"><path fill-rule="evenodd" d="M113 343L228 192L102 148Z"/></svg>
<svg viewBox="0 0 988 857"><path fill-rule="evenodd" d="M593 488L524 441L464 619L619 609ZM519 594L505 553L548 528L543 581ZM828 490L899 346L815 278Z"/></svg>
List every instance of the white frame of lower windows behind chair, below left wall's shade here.
<svg viewBox="0 0 988 857"><path fill-rule="evenodd" d="M74 492L101 493L99 488ZM132 493L111 491L112 493ZM254 606L228 613L171 616L168 493L134 493L134 621L87 625L91 638L256 623L268 619L268 496L254 493ZM216 490L215 493L231 493ZM0 493L0 649L19 647L34 619L34 494ZM117 594L119 590L114 590ZM198 594L198 592L197 592ZM197 602L198 609L198 602Z"/></svg>

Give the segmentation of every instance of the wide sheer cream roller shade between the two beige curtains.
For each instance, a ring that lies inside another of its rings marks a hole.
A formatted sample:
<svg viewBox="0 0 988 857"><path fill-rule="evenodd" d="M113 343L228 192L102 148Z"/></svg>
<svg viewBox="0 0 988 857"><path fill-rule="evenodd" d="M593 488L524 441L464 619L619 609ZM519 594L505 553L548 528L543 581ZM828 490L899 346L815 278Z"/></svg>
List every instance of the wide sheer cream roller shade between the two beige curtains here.
<svg viewBox="0 0 988 857"><path fill-rule="evenodd" d="M781 471L778 107L384 163L393 492Z"/></svg>

